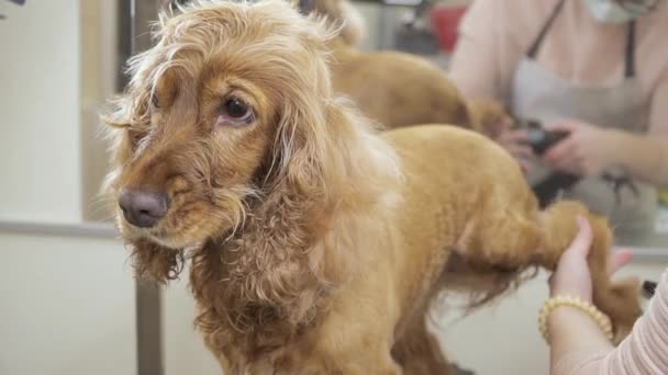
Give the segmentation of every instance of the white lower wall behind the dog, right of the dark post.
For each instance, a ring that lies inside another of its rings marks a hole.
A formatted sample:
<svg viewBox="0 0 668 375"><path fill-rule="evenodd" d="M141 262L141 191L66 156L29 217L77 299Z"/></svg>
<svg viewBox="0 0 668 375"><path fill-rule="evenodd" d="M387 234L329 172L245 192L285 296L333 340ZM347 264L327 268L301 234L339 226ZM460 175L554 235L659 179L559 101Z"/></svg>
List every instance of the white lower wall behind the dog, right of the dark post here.
<svg viewBox="0 0 668 375"><path fill-rule="evenodd" d="M665 268L638 262L619 276L658 280ZM464 319L454 309L436 314L435 330L448 359L476 375L548 374L548 348L537 330L538 309L547 297L546 280L546 274L541 274L516 294ZM218 364L193 332L194 310L185 283L166 291L163 309L165 375L220 375Z"/></svg>

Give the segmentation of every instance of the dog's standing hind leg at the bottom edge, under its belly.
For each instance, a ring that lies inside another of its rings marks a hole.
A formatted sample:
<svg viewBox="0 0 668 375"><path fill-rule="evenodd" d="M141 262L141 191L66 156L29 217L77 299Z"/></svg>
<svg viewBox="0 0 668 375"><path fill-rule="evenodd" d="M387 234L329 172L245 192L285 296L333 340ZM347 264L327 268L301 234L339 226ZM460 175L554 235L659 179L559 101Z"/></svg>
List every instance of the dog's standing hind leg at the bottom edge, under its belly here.
<svg viewBox="0 0 668 375"><path fill-rule="evenodd" d="M438 341L427 330L424 319L402 332L392 348L392 357L404 375L452 374Z"/></svg>

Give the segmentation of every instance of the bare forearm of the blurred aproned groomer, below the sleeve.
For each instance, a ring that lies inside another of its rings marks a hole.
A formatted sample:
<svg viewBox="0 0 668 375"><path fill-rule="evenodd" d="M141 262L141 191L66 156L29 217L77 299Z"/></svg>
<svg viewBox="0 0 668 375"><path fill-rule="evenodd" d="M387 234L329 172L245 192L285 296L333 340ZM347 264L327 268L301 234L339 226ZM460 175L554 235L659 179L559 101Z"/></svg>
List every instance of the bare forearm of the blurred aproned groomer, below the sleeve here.
<svg viewBox="0 0 668 375"><path fill-rule="evenodd" d="M668 137L610 132L615 166L657 188L668 186Z"/></svg>

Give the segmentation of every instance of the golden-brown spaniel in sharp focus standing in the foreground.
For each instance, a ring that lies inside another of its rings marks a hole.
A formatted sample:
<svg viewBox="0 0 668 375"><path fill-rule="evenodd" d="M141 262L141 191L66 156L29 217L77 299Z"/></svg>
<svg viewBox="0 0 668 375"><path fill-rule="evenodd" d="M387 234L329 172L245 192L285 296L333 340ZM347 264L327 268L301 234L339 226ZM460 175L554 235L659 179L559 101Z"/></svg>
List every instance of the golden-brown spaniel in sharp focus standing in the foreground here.
<svg viewBox="0 0 668 375"><path fill-rule="evenodd" d="M197 327L225 374L448 374L425 315L443 289L486 297L555 266L576 203L538 212L516 163L472 132L380 135L337 99L323 22L281 1L205 1L165 18L109 118L109 185L138 276L186 261ZM623 334L595 232L595 303Z"/></svg>

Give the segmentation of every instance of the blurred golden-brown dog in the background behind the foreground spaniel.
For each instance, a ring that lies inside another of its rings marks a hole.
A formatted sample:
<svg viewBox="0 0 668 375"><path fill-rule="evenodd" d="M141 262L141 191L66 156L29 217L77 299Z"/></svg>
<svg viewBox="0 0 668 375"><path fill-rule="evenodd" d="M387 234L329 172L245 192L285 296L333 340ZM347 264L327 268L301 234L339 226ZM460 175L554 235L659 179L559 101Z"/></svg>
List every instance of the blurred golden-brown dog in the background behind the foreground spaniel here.
<svg viewBox="0 0 668 375"><path fill-rule="evenodd" d="M422 57L399 52L364 53L355 46L364 23L347 0L311 0L305 11L338 27L330 41L334 91L387 128L415 124L471 127L466 102L446 73Z"/></svg>

